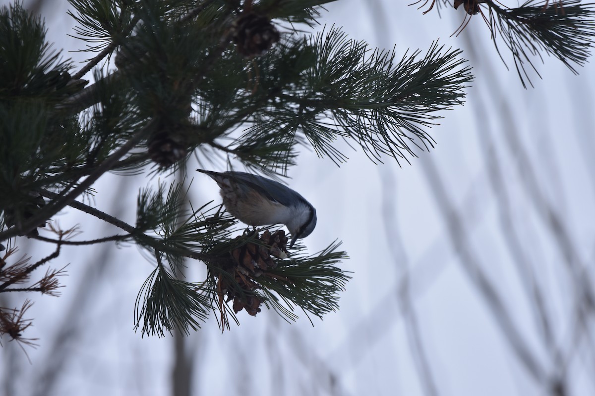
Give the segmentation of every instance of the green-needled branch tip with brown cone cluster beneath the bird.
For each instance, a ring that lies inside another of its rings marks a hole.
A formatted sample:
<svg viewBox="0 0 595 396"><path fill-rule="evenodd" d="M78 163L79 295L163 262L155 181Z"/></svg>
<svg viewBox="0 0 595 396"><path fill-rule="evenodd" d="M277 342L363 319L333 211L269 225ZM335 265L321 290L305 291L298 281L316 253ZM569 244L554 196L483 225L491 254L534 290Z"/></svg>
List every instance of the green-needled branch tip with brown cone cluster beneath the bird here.
<svg viewBox="0 0 595 396"><path fill-rule="evenodd" d="M219 242L208 250L213 259L202 258L208 277L202 283L177 280L163 264L161 252L155 252L157 268L149 275L137 297L136 328L142 334L162 337L165 331L196 330L206 320L206 312L220 312L222 330L229 328L228 315L250 315L261 311L264 303L287 320L295 320L296 306L322 318L338 309L338 293L349 280L334 264L347 258L333 243L327 249L307 257L287 258L287 238L282 231L271 235L257 232ZM171 262L170 262L171 264ZM171 268L175 271L175 268ZM170 306L171 299L186 300L186 308ZM233 300L233 312L227 303Z"/></svg>

